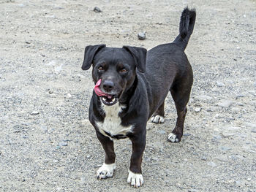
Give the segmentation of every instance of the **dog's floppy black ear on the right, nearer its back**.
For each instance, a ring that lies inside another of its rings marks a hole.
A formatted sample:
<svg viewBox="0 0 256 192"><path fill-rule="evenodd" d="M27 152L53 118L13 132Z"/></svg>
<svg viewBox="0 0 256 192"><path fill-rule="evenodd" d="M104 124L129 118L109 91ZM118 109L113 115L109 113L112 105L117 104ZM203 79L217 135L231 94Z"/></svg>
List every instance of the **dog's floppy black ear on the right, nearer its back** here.
<svg viewBox="0 0 256 192"><path fill-rule="evenodd" d="M132 54L132 57L135 59L135 64L139 72L145 72L147 50L142 47L124 46L123 48Z"/></svg>

